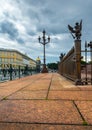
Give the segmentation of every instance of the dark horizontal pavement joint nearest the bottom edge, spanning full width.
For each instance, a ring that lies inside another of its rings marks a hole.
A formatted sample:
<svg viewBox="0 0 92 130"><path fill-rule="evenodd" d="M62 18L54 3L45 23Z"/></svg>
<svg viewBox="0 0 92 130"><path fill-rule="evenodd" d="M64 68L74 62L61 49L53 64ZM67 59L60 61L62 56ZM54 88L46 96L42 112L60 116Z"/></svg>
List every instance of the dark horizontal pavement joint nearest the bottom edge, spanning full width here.
<svg viewBox="0 0 92 130"><path fill-rule="evenodd" d="M72 123L49 123L49 122L13 122L13 121L0 121L0 123L3 123L3 124L38 124L38 125L72 125L72 126L92 126L92 124L87 124L87 125L84 125L84 124L72 124Z"/></svg>

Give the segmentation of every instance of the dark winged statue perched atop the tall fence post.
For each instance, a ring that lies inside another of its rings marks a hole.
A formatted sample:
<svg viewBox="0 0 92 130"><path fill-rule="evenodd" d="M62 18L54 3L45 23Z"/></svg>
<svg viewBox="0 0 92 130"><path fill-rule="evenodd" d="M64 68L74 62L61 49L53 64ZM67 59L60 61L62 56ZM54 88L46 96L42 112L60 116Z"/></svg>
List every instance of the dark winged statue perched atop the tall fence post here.
<svg viewBox="0 0 92 130"><path fill-rule="evenodd" d="M72 37L76 40L80 40L81 38L81 30L82 30L82 20L80 21L80 23L75 23L74 28L71 27L70 25L68 25L68 29L70 30L70 33L72 35Z"/></svg>

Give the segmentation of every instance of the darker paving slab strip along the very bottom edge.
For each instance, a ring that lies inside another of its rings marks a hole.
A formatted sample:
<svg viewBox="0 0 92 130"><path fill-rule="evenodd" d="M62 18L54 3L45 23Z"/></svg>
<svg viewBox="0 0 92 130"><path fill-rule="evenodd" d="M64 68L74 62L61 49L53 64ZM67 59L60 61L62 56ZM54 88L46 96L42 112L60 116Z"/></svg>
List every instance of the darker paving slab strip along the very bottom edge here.
<svg viewBox="0 0 92 130"><path fill-rule="evenodd" d="M0 130L92 130L92 126L0 123Z"/></svg>

